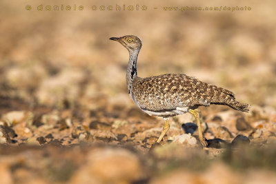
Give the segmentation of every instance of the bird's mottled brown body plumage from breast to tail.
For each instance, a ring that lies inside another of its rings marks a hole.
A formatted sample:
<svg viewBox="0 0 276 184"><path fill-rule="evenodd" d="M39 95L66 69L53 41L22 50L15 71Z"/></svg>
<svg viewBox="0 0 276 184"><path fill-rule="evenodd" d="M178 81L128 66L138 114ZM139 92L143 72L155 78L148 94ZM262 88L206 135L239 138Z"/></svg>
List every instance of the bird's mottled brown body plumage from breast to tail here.
<svg viewBox="0 0 276 184"><path fill-rule="evenodd" d="M135 78L131 96L144 110L162 111L176 108L197 108L211 103L228 105L247 111L248 105L235 101L233 92L199 81L185 74L162 74L148 78ZM244 105L239 108L239 106Z"/></svg>

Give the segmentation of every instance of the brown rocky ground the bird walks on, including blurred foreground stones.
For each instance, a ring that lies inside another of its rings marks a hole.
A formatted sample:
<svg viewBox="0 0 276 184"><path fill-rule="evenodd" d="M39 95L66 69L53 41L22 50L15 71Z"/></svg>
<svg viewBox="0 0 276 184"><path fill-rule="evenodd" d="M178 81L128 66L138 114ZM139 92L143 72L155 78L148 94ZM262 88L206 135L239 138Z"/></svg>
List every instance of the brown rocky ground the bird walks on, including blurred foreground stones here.
<svg viewBox="0 0 276 184"><path fill-rule="evenodd" d="M128 96L126 96L128 97ZM0 170L6 183L275 183L276 112L201 108L208 147L185 114L162 119L107 103L97 110L30 108L1 98ZM101 103L100 103L101 102ZM8 108L6 108L8 107ZM12 110L15 109L15 110ZM25 109L25 110L17 110ZM12 110L12 111L10 111Z"/></svg>

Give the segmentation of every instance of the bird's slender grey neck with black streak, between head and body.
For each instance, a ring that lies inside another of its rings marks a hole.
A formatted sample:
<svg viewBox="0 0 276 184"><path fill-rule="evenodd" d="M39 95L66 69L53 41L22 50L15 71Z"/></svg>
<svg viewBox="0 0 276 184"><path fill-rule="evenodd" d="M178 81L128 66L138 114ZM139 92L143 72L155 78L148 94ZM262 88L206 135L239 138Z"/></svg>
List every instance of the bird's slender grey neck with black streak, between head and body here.
<svg viewBox="0 0 276 184"><path fill-rule="evenodd" d="M140 50L129 50L128 69L126 70L126 84L128 85L128 93L132 86L133 79L137 76L137 58Z"/></svg>

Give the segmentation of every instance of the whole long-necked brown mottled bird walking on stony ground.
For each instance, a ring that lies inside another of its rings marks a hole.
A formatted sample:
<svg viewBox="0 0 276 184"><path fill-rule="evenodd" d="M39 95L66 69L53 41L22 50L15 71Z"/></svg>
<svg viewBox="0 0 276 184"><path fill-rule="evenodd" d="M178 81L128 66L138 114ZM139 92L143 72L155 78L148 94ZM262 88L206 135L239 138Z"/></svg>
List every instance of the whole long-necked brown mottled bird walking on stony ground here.
<svg viewBox="0 0 276 184"><path fill-rule="evenodd" d="M169 118L188 112L197 121L201 145L207 147L208 142L201 130L199 106L227 105L240 112L249 111L250 105L236 101L233 92L199 81L186 74L161 74L146 78L137 76L137 58L142 46L141 39L134 35L126 35L110 37L110 40L121 43L129 52L126 85L132 100L150 116L161 116L164 119L157 143L162 141L170 128Z"/></svg>

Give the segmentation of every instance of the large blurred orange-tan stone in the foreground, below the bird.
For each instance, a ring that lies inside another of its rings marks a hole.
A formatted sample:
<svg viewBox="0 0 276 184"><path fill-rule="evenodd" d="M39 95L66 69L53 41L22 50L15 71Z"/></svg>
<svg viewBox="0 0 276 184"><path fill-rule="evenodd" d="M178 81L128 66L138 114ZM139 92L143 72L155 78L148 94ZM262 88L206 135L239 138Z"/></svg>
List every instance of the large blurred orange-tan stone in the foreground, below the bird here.
<svg viewBox="0 0 276 184"><path fill-rule="evenodd" d="M118 148L98 148L88 152L86 165L72 176L70 183L131 183L142 176L138 157Z"/></svg>

